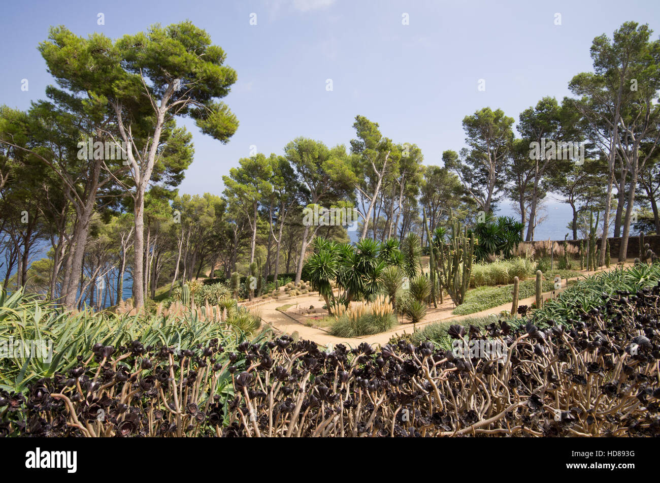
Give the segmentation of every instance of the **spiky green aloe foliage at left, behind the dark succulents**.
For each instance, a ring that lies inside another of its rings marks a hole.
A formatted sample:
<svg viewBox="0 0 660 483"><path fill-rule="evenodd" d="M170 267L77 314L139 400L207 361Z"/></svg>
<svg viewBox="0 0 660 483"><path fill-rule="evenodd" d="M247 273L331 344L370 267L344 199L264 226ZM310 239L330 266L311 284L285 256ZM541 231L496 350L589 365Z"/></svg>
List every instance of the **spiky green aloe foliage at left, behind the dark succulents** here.
<svg viewBox="0 0 660 483"><path fill-rule="evenodd" d="M235 302L234 302L235 303ZM20 290L7 296L0 292L0 340L51 340L50 362L35 357L0 358L0 387L21 391L26 384L65 373L76 367L78 357L92 356L96 343L118 347L139 340L145 346L164 344L175 348L193 348L213 338L228 350L246 340L244 330L253 325L208 323L189 311L182 315L125 315L116 313L71 313L53 304L24 296Z"/></svg>

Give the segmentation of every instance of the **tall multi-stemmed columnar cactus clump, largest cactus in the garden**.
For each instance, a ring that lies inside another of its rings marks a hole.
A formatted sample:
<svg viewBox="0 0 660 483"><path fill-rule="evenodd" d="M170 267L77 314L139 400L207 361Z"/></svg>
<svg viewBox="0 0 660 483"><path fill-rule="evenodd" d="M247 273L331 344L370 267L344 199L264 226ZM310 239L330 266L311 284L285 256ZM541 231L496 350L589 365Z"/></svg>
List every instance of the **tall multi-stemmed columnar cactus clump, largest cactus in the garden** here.
<svg viewBox="0 0 660 483"><path fill-rule="evenodd" d="M451 213L451 238L438 247L438 262L442 269L442 286L457 306L463 304L470 284L472 263L475 259L475 235L467 234L467 227L454 220ZM462 232L462 233L461 233Z"/></svg>

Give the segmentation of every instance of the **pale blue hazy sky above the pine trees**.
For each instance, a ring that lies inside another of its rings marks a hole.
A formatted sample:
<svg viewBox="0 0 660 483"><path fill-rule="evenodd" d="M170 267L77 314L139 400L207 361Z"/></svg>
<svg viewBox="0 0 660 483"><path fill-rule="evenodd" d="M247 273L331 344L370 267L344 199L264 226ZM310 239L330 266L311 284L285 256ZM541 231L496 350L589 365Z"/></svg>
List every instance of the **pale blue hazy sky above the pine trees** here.
<svg viewBox="0 0 660 483"><path fill-rule="evenodd" d="M378 122L395 143L420 146L424 164L440 165L444 150L465 145L466 115L490 106L517 121L544 96L570 95L570 79L592 70L589 48L596 36L611 36L634 20L649 24L657 38L660 2L6 2L0 16L0 104L26 109L54 84L37 50L49 26L119 38L183 20L207 30L238 74L223 99L240 122L228 144L178 121L193 133L195 145L180 193L220 194L222 176L253 146L281 154L299 136L348 146L358 114ZM480 80L485 90L479 90ZM547 209L537 238L563 239L570 209L560 202ZM504 212L510 214L506 207Z"/></svg>

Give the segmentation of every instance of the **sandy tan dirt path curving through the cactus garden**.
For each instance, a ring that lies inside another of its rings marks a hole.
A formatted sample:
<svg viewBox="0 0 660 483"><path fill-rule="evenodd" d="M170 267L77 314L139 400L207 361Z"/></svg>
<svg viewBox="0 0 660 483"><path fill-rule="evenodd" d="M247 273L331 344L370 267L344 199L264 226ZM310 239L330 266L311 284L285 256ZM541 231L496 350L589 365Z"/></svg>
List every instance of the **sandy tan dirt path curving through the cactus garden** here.
<svg viewBox="0 0 660 483"><path fill-rule="evenodd" d="M628 263L626 263L626 265L628 265ZM582 271L579 277L574 277L571 278L570 280L577 280L578 278L582 278L583 276L590 276L595 273L602 273L603 271L614 270L615 268L616 266L612 266L610 267L610 269L603 269L597 272ZM560 290L554 291L555 294L559 294L566 288L566 279L562 280L562 285L563 287ZM544 292L543 299L547 300L550 297L550 294L552 294L552 292ZM518 305L529 306L533 304L535 300L536 297L531 296L519 300ZM277 307L282 307L289 304L292 304L292 306L289 307L286 311L282 312L277 310ZM424 320L414 325L414 327L413 324L402 323L401 325L398 325L391 331L383 332L380 334L366 335L363 337L354 337L354 338L343 338L343 337L335 337L333 335L330 335L324 329L320 329L317 327L310 327L309 325L306 325L301 322L305 320L304 315L300 314L301 307L304 308L310 306L321 307L323 306L323 304L325 304L323 298L320 298L318 294L314 292L313 294L306 296L298 296L294 298L280 298L279 300L268 300L267 302L257 304L255 306L255 310L257 311L258 315L261 317L261 320L265 324L270 325L271 327L273 327L273 329L276 329L277 331L281 331L282 333L292 334L294 332L297 332L300 335L300 338L314 340L314 342L322 346L328 346L329 344L333 344L333 345L347 344L348 346L356 347L358 346L358 344L361 344L362 342L368 342L369 344L379 344L382 346L387 344L387 342L389 342L389 339L395 335L411 334L415 329L420 329L426 325L435 322L451 321L452 323L457 323L458 321L461 321L469 317L483 317L491 314L499 315L500 312L502 312L503 310L510 311L512 305L511 302L507 302L506 304L502 304L501 306L492 307L490 309L471 313L469 315L453 315L451 311L455 309L455 305L453 304L453 302L451 302L451 300L446 300L445 303L442 304L442 306L438 306L437 309L428 309L426 313L426 317L424 317ZM401 322L400 317L399 317L399 321Z"/></svg>

